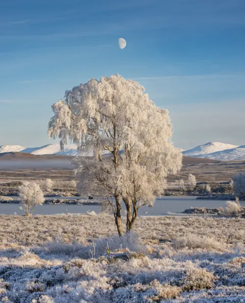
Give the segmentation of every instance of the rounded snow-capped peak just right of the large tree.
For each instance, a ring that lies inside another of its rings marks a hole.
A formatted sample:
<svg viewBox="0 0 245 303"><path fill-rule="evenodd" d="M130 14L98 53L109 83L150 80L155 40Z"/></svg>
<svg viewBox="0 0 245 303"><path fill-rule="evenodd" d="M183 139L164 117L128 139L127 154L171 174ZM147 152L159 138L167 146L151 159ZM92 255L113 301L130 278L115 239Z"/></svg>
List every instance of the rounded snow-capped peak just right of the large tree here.
<svg viewBox="0 0 245 303"><path fill-rule="evenodd" d="M222 150L236 148L236 147L238 146L232 144L225 144L221 142L208 142L206 144L195 146L194 148L185 150L184 152L182 152L182 154L184 156L189 156L189 157L199 157L201 155L216 153Z"/></svg>

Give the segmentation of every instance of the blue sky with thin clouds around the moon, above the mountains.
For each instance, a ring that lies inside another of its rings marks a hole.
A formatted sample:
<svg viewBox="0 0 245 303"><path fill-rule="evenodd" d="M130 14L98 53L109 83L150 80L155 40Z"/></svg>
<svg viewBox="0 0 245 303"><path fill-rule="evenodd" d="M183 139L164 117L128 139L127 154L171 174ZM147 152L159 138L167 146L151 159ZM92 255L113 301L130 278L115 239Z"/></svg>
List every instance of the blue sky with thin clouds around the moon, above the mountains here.
<svg viewBox="0 0 245 303"><path fill-rule="evenodd" d="M51 104L116 73L169 110L175 145L245 144L244 63L244 0L1 1L0 145L53 143Z"/></svg>

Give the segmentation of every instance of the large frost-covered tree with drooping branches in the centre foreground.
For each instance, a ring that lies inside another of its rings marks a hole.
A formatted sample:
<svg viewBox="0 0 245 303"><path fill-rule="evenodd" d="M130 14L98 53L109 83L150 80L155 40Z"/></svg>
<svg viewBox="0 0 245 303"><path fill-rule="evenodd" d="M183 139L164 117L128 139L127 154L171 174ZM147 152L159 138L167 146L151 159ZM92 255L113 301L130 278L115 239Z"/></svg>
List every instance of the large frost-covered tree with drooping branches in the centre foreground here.
<svg viewBox="0 0 245 303"><path fill-rule="evenodd" d="M79 192L107 198L104 208L113 212L119 235L124 203L130 231L138 209L152 206L167 175L182 165L170 141L168 111L157 107L138 82L120 75L75 86L52 109L48 134L60 138L61 149L69 139L80 152L93 150L92 157L74 161Z"/></svg>

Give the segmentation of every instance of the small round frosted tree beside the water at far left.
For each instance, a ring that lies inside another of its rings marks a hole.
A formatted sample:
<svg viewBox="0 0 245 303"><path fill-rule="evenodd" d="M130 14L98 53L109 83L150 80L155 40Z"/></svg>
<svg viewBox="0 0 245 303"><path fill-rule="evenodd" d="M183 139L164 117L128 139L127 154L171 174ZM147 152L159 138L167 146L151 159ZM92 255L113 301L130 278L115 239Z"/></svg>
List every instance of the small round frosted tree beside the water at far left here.
<svg viewBox="0 0 245 303"><path fill-rule="evenodd" d="M21 204L26 207L26 215L32 214L34 207L44 202L43 192L39 184L24 181L18 190Z"/></svg>

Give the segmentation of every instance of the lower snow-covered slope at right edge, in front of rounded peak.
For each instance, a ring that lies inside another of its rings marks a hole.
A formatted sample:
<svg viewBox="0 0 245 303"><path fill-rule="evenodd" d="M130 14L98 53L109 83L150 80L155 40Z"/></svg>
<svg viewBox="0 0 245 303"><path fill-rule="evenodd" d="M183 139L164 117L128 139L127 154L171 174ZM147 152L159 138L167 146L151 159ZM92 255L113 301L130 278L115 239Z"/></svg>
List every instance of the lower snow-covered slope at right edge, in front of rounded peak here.
<svg viewBox="0 0 245 303"><path fill-rule="evenodd" d="M219 152L211 154L197 155L192 157L207 158L220 161L245 160L245 145L241 145L236 148L220 150Z"/></svg>

